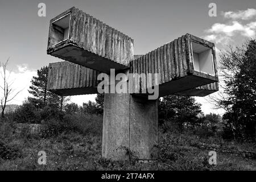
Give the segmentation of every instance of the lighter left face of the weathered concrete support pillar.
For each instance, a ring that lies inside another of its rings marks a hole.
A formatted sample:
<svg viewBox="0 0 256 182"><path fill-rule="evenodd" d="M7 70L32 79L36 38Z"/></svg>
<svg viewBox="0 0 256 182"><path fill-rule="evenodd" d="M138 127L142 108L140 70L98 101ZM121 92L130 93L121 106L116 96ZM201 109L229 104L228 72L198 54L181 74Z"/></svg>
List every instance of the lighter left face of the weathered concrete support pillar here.
<svg viewBox="0 0 256 182"><path fill-rule="evenodd" d="M126 160L129 148L130 94L105 94L102 132L102 156Z"/></svg>

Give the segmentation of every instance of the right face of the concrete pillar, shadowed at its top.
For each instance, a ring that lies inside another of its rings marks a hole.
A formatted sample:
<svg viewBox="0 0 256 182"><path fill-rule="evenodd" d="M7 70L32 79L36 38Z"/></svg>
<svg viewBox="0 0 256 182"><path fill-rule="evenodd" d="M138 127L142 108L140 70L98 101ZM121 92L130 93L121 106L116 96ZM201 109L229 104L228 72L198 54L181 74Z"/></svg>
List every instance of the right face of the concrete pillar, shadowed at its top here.
<svg viewBox="0 0 256 182"><path fill-rule="evenodd" d="M158 158L158 103L130 96L130 150L139 159Z"/></svg>

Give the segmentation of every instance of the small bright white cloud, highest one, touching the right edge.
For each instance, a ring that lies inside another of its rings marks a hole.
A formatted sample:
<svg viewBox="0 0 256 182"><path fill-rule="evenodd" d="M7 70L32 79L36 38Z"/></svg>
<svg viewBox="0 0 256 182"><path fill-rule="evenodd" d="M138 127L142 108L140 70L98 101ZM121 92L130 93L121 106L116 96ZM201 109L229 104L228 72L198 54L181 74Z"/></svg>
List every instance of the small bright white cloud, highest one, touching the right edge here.
<svg viewBox="0 0 256 182"><path fill-rule="evenodd" d="M237 12L227 11L222 13L225 18L249 20L256 16L256 9L239 10Z"/></svg>

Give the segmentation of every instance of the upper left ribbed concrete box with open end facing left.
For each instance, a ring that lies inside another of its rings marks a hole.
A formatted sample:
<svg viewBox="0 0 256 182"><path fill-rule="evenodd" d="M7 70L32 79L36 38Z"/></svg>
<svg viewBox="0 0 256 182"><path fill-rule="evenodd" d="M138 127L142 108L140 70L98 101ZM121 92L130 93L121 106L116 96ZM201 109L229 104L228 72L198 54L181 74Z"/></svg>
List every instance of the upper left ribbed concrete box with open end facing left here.
<svg viewBox="0 0 256 182"><path fill-rule="evenodd" d="M133 39L72 7L51 20L47 53L109 73L129 67Z"/></svg>

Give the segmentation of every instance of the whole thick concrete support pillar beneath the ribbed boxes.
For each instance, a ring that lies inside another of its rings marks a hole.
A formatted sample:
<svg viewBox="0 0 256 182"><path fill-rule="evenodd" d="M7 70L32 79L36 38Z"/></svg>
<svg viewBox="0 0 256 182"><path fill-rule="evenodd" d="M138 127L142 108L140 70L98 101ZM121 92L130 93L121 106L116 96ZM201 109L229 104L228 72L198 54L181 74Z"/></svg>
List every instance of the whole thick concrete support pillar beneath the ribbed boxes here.
<svg viewBox="0 0 256 182"><path fill-rule="evenodd" d="M102 156L113 160L158 159L157 100L105 94Z"/></svg>

